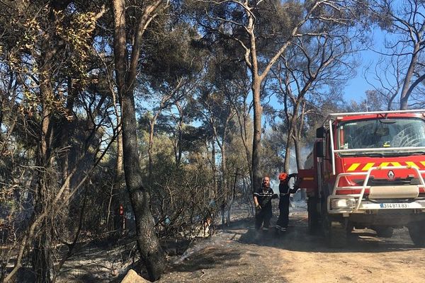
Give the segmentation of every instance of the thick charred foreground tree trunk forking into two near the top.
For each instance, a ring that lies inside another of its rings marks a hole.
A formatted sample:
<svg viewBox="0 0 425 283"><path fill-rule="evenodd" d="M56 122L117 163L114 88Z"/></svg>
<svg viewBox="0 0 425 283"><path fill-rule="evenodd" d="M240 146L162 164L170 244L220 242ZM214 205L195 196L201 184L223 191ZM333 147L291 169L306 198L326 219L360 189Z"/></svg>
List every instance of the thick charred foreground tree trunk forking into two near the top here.
<svg viewBox="0 0 425 283"><path fill-rule="evenodd" d="M132 209L135 214L137 246L142 258L142 262L147 267L149 279L155 281L164 272L165 256L154 229L154 221L150 211L149 192L142 185L142 172L139 163L138 142L137 142L137 122L134 98L134 81L136 76L137 62L140 57L142 45L142 35L146 26L150 22L152 13L161 3L154 2L147 6L135 33L134 44L130 63L127 61L127 41L125 35L125 1L113 0L114 14L114 55L115 55L115 76L118 93L122 100L122 121L123 121L123 156L125 183L130 195ZM129 67L127 69L127 67ZM128 71L129 70L129 71Z"/></svg>

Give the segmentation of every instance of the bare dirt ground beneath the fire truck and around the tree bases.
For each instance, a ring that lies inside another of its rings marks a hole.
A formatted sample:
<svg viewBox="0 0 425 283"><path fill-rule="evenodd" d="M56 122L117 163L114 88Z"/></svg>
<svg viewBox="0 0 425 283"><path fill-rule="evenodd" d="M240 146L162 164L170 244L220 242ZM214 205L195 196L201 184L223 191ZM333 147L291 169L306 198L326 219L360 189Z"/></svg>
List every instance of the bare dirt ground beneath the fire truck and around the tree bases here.
<svg viewBox="0 0 425 283"><path fill-rule="evenodd" d="M280 236L256 232L254 219L239 216L212 238L170 257L158 282L425 282L425 249L413 245L407 229L396 229L392 238L378 238L371 230L354 231L347 248L335 249L327 248L322 236L307 233L302 204L291 209L290 227ZM71 260L61 281L119 282L120 270L126 268L118 260L123 252L108 252L118 257L115 263L106 263L108 255L103 253L87 252L86 262L79 265ZM125 257L129 259L128 253Z"/></svg>

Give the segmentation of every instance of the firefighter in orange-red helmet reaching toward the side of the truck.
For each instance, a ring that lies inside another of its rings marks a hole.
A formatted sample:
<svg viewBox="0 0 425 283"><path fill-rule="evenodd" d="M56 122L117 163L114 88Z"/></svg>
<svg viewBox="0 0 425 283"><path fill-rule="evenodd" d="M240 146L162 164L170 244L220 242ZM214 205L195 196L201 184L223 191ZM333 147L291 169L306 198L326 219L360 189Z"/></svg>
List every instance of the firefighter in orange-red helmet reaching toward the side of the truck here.
<svg viewBox="0 0 425 283"><path fill-rule="evenodd" d="M289 187L290 178L295 178L292 189ZM279 180L279 218L276 222L276 231L285 232L289 221L289 197L290 194L297 192L297 174L280 173Z"/></svg>

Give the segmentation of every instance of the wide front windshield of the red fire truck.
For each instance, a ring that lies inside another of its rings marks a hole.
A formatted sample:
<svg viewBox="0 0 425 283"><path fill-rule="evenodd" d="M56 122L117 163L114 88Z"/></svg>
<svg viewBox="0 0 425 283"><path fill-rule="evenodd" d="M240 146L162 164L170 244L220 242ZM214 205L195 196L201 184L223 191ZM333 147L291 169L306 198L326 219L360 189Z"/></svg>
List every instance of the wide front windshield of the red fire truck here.
<svg viewBox="0 0 425 283"><path fill-rule="evenodd" d="M425 121L419 118L394 118L343 122L338 127L338 141L338 149L376 148L376 152L382 154L390 153L390 151L379 151L382 148L425 146ZM404 152L407 151L414 151L414 149L406 149ZM353 153L341 152L340 154Z"/></svg>

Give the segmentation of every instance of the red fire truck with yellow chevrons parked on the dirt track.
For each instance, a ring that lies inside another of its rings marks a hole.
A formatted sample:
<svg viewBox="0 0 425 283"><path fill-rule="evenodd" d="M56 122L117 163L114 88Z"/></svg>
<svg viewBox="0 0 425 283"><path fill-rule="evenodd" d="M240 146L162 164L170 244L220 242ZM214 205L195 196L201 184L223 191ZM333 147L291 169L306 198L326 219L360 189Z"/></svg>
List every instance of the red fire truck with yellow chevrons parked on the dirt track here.
<svg viewBox="0 0 425 283"><path fill-rule="evenodd" d="M298 174L309 231L340 247L354 227L391 237L407 226L425 246L425 110L331 114L316 135Z"/></svg>

